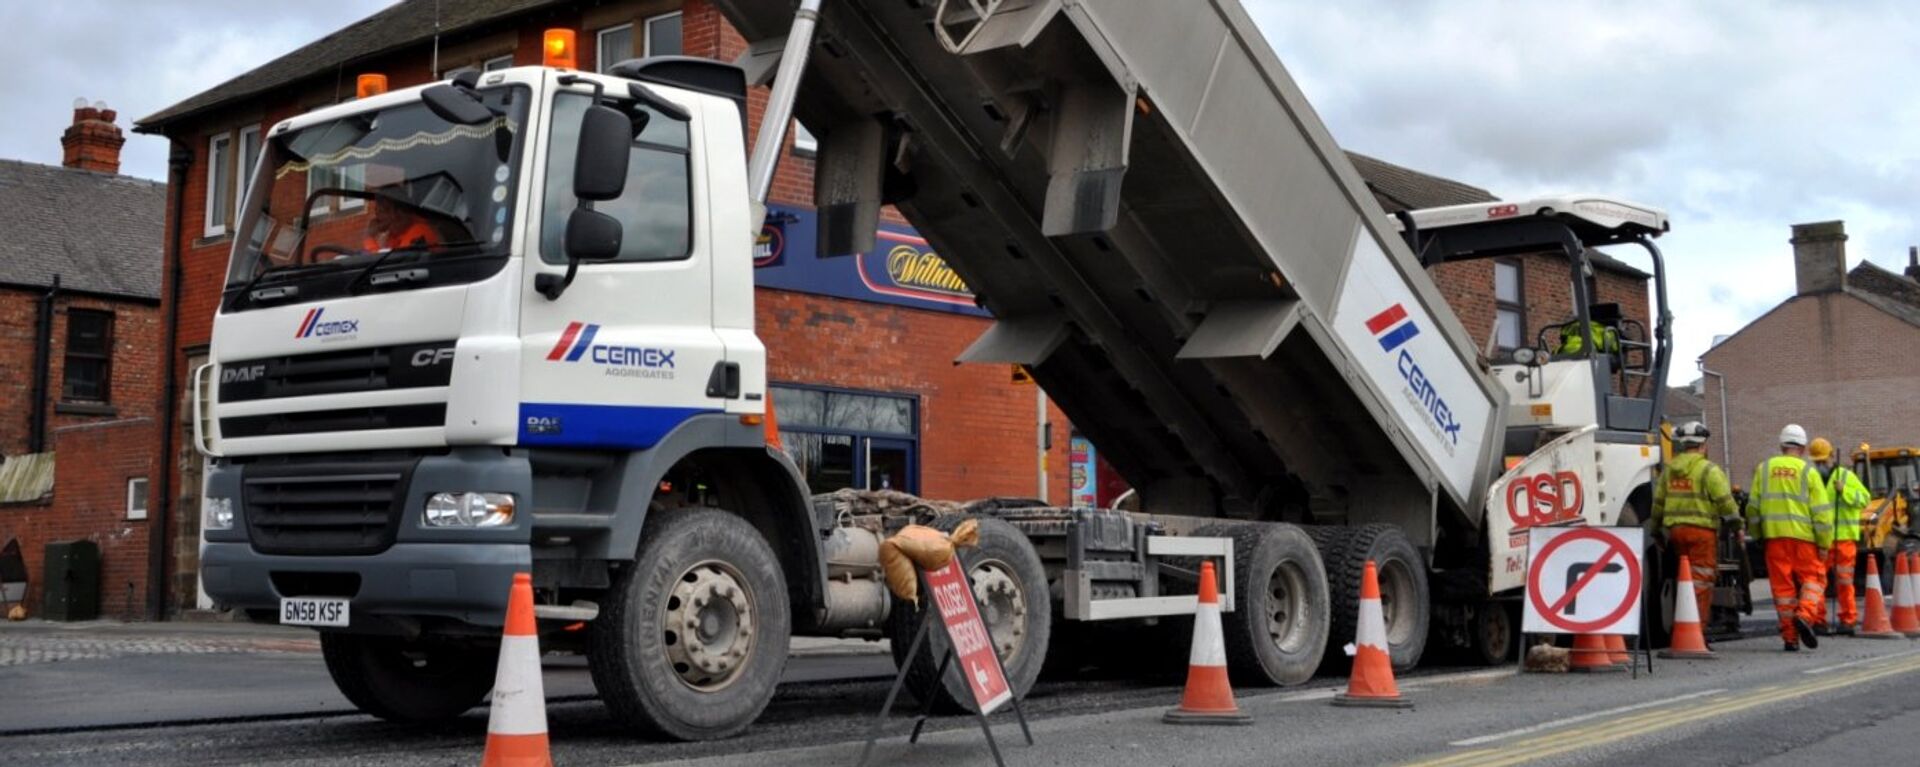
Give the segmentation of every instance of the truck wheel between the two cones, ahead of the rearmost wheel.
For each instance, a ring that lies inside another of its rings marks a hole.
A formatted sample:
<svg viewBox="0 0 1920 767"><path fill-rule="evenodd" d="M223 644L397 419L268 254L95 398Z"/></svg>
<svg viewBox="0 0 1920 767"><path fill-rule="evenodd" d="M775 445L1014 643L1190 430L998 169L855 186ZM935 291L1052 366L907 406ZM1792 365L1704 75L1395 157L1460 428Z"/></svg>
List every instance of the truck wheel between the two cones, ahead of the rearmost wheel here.
<svg viewBox="0 0 1920 767"><path fill-rule="evenodd" d="M1221 613L1236 682L1302 684L1327 654L1327 567L1298 525L1210 525L1233 538L1233 611ZM1227 588L1227 584L1219 584Z"/></svg>

